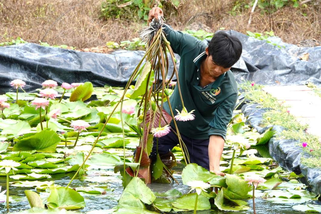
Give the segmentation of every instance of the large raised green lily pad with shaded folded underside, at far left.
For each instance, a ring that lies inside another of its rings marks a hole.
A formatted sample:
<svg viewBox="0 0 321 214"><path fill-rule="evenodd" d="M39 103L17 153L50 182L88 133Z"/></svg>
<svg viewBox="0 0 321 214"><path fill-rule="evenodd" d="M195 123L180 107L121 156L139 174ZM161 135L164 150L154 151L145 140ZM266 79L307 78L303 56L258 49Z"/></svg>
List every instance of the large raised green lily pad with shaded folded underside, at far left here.
<svg viewBox="0 0 321 214"><path fill-rule="evenodd" d="M43 130L24 138L13 146L14 151L37 150L37 152L55 152L60 137L53 131Z"/></svg>

